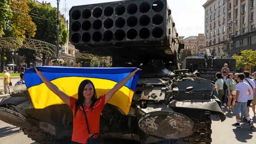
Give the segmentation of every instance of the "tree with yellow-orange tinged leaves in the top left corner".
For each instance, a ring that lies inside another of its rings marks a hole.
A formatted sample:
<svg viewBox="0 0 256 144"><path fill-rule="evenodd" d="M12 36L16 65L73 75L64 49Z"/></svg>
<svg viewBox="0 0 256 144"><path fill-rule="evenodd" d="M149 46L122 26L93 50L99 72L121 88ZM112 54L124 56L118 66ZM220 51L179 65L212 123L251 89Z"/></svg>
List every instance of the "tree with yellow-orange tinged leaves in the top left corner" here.
<svg viewBox="0 0 256 144"><path fill-rule="evenodd" d="M36 25L29 16L30 8L27 0L0 0L0 2L0 37L34 37ZM4 69L4 57L9 49L0 47L2 70Z"/></svg>

